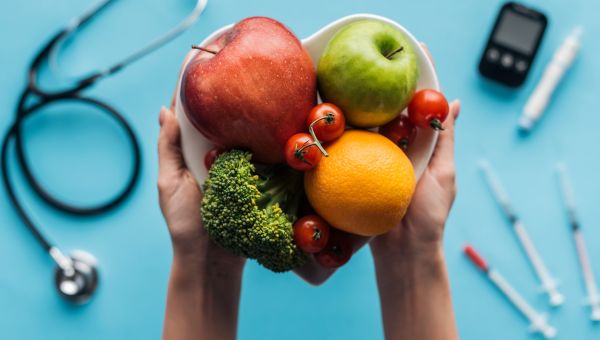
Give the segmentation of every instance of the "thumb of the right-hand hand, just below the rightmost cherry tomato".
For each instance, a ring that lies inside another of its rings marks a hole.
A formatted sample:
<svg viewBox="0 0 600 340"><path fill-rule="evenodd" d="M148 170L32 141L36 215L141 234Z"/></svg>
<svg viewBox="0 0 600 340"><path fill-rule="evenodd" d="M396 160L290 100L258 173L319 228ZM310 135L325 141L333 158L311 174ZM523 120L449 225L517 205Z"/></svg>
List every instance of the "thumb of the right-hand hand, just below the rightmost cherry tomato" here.
<svg viewBox="0 0 600 340"><path fill-rule="evenodd" d="M429 163L429 169L442 177L454 176L454 123L459 112L460 101L455 100L450 104L450 113L443 124L444 130L440 131Z"/></svg>

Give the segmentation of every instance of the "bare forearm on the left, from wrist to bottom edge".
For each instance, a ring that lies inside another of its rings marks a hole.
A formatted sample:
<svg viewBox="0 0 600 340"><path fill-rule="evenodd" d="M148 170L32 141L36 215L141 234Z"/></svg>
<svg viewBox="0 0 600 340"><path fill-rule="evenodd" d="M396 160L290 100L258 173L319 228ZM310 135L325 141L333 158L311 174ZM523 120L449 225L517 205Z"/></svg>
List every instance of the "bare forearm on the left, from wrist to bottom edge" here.
<svg viewBox="0 0 600 340"><path fill-rule="evenodd" d="M179 258L173 259L165 340L235 339L241 271Z"/></svg>

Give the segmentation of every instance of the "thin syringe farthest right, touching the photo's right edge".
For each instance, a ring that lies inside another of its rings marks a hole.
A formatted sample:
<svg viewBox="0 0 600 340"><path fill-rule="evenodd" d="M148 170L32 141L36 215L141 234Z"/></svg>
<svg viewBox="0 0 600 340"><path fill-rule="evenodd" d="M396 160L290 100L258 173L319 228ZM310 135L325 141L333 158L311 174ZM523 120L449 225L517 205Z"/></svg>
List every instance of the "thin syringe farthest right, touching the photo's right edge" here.
<svg viewBox="0 0 600 340"><path fill-rule="evenodd" d="M598 287L596 286L596 280L594 279L594 273L590 264L589 257L585 243L583 242L583 234L581 233L581 227L577 220L577 214L575 212L575 196L573 194L573 186L567 176L567 167L564 164L557 165L560 189L563 196L563 202L569 215L569 223L571 225L571 231L573 233L573 239L575 240L575 248L577 249L577 257L579 258L579 265L581 267L581 273L583 275L583 281L587 290L587 302L592 308L592 314L590 318L593 321L600 321L600 294L598 294Z"/></svg>

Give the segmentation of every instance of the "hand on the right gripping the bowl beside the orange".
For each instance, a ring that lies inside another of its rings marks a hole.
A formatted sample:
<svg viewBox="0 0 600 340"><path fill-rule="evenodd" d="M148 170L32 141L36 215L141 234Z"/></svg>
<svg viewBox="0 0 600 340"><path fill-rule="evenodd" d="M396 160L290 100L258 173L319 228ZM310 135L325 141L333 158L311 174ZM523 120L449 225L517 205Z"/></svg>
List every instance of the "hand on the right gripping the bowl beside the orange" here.
<svg viewBox="0 0 600 340"><path fill-rule="evenodd" d="M454 123L459 111L460 102L452 102L431 161L400 225L371 241L376 264L441 254L444 225L456 195Z"/></svg>

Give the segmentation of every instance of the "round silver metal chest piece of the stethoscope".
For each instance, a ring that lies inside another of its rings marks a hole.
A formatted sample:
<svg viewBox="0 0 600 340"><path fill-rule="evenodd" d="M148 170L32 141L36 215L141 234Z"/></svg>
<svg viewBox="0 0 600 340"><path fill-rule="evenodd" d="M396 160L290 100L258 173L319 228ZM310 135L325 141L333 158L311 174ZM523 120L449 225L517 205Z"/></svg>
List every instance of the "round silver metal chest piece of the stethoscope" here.
<svg viewBox="0 0 600 340"><path fill-rule="evenodd" d="M90 299L98 287L96 259L82 250L73 251L69 257L71 266L56 266L54 283L63 298L82 304Z"/></svg>

